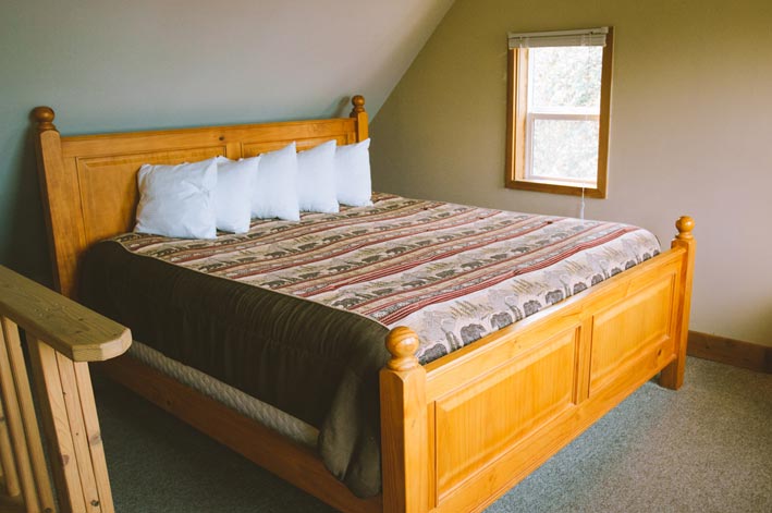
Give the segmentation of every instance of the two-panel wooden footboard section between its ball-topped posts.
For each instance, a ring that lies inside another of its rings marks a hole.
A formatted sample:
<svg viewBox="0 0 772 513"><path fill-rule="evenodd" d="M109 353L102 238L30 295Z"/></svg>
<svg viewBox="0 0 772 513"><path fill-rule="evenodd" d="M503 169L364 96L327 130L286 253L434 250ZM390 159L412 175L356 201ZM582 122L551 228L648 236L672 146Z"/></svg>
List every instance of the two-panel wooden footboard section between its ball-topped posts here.
<svg viewBox="0 0 772 513"><path fill-rule="evenodd" d="M426 366L426 511L478 511L676 358L675 248Z"/></svg>

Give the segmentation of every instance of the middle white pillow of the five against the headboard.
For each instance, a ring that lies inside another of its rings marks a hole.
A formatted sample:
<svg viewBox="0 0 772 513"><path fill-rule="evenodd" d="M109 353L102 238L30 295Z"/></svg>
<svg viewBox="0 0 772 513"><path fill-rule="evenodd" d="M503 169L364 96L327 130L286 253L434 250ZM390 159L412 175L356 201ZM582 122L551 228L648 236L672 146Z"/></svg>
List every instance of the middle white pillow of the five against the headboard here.
<svg viewBox="0 0 772 513"><path fill-rule="evenodd" d="M252 195L252 217L299 221L295 143L260 156Z"/></svg>

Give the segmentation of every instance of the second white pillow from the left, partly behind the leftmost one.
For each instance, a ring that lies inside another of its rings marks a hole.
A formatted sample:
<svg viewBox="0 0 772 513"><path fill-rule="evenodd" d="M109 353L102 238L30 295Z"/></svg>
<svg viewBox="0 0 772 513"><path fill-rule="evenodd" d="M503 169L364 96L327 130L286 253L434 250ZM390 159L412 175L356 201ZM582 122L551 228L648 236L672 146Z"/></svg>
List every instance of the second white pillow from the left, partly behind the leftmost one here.
<svg viewBox="0 0 772 513"><path fill-rule="evenodd" d="M217 158L215 210L217 229L246 233L252 219L252 194L260 157L231 160Z"/></svg>

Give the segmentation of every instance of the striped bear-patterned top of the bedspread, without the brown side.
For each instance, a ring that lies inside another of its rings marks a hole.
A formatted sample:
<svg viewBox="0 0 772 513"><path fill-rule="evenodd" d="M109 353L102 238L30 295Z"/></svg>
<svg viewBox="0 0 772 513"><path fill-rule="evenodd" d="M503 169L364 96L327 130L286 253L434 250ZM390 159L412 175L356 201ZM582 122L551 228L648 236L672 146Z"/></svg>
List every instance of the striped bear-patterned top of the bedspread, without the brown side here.
<svg viewBox="0 0 772 513"><path fill-rule="evenodd" d="M420 337L422 363L660 252L640 228L376 194L373 206L256 220L249 233L115 237L139 255L282 292Z"/></svg>

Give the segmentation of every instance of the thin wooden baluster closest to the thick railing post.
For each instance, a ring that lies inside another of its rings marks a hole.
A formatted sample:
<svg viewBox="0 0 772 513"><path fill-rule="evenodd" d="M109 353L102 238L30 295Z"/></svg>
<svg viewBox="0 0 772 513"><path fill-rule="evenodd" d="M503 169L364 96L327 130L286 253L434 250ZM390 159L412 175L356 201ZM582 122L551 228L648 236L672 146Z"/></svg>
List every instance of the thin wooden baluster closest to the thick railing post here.
<svg viewBox="0 0 772 513"><path fill-rule="evenodd" d="M27 367L24 363L19 327L9 319L0 319L0 323L2 323L2 331L5 335L11 374L13 375L16 386L16 396L19 398L21 407L24 433L27 440L27 451L33 465L33 475L35 476L38 499L44 512L52 512L56 510L53 491L51 480L48 477L48 464L46 463L46 455L42 451L42 441L40 439L40 430L35 414L35 404L33 403L33 395L29 389L29 378L27 376Z"/></svg>

